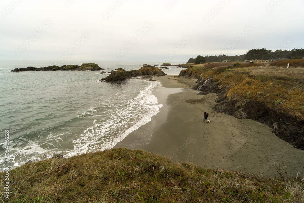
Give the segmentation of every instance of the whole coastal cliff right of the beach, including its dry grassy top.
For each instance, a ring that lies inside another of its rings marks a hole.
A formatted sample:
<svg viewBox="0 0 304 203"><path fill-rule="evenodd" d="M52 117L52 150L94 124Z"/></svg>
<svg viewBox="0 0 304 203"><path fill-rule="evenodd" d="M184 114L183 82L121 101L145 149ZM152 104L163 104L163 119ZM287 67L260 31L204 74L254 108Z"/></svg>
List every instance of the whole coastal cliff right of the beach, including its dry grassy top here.
<svg viewBox="0 0 304 203"><path fill-rule="evenodd" d="M197 65L180 75L201 74L193 89L203 95L218 93L218 112L266 124L279 138L304 150L304 68L213 66Z"/></svg>

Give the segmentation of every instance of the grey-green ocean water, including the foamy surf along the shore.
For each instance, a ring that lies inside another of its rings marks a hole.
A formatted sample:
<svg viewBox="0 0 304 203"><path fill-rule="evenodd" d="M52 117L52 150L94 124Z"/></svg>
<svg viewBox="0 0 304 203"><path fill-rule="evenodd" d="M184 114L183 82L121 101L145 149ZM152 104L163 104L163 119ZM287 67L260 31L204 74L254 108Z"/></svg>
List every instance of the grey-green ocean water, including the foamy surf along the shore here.
<svg viewBox="0 0 304 203"><path fill-rule="evenodd" d="M147 62L93 62L105 72L140 69ZM150 65L158 63L150 62ZM110 149L159 112L152 90L158 84L144 77L124 82L99 80L101 71L10 72L14 68L54 65L52 61L0 61L0 170L9 130L11 168L62 153L74 156ZM182 68L169 67L166 74Z"/></svg>

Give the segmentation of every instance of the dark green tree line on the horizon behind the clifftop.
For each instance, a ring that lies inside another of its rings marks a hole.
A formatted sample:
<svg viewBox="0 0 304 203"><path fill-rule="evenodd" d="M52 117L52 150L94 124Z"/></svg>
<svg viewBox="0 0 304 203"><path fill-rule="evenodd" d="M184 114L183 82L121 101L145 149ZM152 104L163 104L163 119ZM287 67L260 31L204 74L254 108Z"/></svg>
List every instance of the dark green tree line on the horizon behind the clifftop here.
<svg viewBox="0 0 304 203"><path fill-rule="evenodd" d="M246 54L243 55L235 55L235 56L227 56L223 55L214 55L214 56L201 56L198 55L196 58L190 58L187 63L213 63L213 62L221 62L223 60L231 60L231 61L245 61L247 59L261 59L261 60L269 60L276 58L288 58L288 59L302 59L304 57L304 49L292 49L282 50L277 49L276 51L267 50L265 48L262 49L250 49Z"/></svg>

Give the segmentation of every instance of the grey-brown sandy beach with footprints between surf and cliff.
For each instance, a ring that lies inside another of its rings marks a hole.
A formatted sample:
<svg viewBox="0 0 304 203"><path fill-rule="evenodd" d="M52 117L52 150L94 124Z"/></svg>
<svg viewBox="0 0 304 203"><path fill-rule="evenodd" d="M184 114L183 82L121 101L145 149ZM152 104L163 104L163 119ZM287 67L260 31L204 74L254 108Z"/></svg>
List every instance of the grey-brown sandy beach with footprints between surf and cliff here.
<svg viewBox="0 0 304 203"><path fill-rule="evenodd" d="M195 79L165 75L153 80L161 82L153 94L163 107L115 148L145 149L211 169L277 175L272 163L282 163L287 175L304 172L304 151L279 139L267 125L217 113L212 109L216 94L189 89ZM205 110L210 123L203 121Z"/></svg>

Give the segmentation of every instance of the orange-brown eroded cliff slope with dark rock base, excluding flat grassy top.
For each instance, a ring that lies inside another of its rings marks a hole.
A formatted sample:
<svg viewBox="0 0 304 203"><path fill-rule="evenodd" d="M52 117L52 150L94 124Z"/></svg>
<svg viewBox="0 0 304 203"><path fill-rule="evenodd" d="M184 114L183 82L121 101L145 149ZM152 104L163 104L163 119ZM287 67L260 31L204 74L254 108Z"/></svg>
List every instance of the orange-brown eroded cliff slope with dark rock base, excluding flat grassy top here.
<svg viewBox="0 0 304 203"><path fill-rule="evenodd" d="M216 111L266 124L279 138L304 150L303 83L241 72L208 72L197 83L193 89L200 94L219 94Z"/></svg>

